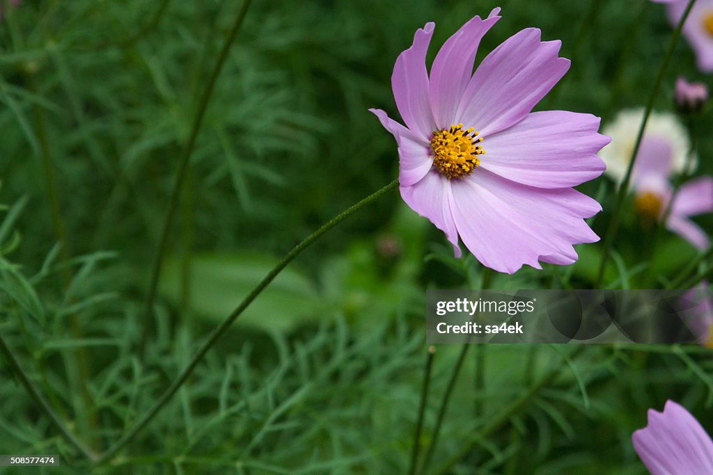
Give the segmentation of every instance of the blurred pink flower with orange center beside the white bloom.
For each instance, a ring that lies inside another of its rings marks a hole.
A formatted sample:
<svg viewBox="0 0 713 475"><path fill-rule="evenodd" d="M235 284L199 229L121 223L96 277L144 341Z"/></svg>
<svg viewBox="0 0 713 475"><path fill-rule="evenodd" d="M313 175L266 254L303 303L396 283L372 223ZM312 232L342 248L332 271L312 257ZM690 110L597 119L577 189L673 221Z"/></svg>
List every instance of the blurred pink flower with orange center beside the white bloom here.
<svg viewBox="0 0 713 475"><path fill-rule="evenodd" d="M659 136L644 136L632 170L636 209L642 216L660 220L674 197L666 227L697 248L707 249L710 245L708 236L689 218L713 212L713 178L692 179L682 184L674 196L669 181L671 157L671 145L667 140Z"/></svg>

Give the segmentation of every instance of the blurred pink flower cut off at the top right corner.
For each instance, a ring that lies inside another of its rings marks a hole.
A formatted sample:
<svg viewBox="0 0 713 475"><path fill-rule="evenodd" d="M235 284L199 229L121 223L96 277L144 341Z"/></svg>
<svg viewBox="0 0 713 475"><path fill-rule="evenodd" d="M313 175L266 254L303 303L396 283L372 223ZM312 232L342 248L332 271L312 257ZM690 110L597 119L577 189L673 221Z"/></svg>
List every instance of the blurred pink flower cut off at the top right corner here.
<svg viewBox="0 0 713 475"><path fill-rule="evenodd" d="M660 1L672 25L681 20L688 1ZM683 26L683 34L696 52L698 67L705 73L713 71L713 0L697 0Z"/></svg>

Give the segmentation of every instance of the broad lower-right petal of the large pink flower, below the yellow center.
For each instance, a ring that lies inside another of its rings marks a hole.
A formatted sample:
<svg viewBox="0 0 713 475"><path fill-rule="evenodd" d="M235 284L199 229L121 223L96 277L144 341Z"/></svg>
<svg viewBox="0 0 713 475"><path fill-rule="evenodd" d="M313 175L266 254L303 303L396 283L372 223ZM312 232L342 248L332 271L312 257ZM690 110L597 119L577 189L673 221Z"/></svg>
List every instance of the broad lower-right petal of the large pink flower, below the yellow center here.
<svg viewBox="0 0 713 475"><path fill-rule="evenodd" d="M595 200L572 188L540 189L488 172L451 180L451 210L458 233L478 261L513 273L538 260L572 263L572 244L599 238L583 220L599 212Z"/></svg>

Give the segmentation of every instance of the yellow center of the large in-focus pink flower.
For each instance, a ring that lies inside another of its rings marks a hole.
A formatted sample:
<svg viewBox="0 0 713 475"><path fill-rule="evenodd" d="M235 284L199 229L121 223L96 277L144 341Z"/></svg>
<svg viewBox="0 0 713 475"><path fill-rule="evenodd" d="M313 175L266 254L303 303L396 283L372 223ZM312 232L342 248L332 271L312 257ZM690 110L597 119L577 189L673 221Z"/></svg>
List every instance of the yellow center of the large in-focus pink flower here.
<svg viewBox="0 0 713 475"><path fill-rule="evenodd" d="M481 162L478 155L486 152L478 145L482 141L483 137L478 137L478 132L475 132L473 127L463 130L463 124L434 130L434 137L431 139L434 166L448 179L473 173Z"/></svg>

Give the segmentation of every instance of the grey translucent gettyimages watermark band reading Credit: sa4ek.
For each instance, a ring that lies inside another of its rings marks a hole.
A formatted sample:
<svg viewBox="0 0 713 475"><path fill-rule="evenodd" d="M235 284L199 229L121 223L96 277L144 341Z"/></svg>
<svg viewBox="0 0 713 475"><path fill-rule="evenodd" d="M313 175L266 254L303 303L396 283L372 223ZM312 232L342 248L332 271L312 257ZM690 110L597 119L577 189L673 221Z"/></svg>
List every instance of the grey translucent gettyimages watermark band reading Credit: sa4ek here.
<svg viewBox="0 0 713 475"><path fill-rule="evenodd" d="M426 291L428 343L693 343L709 291Z"/></svg>

